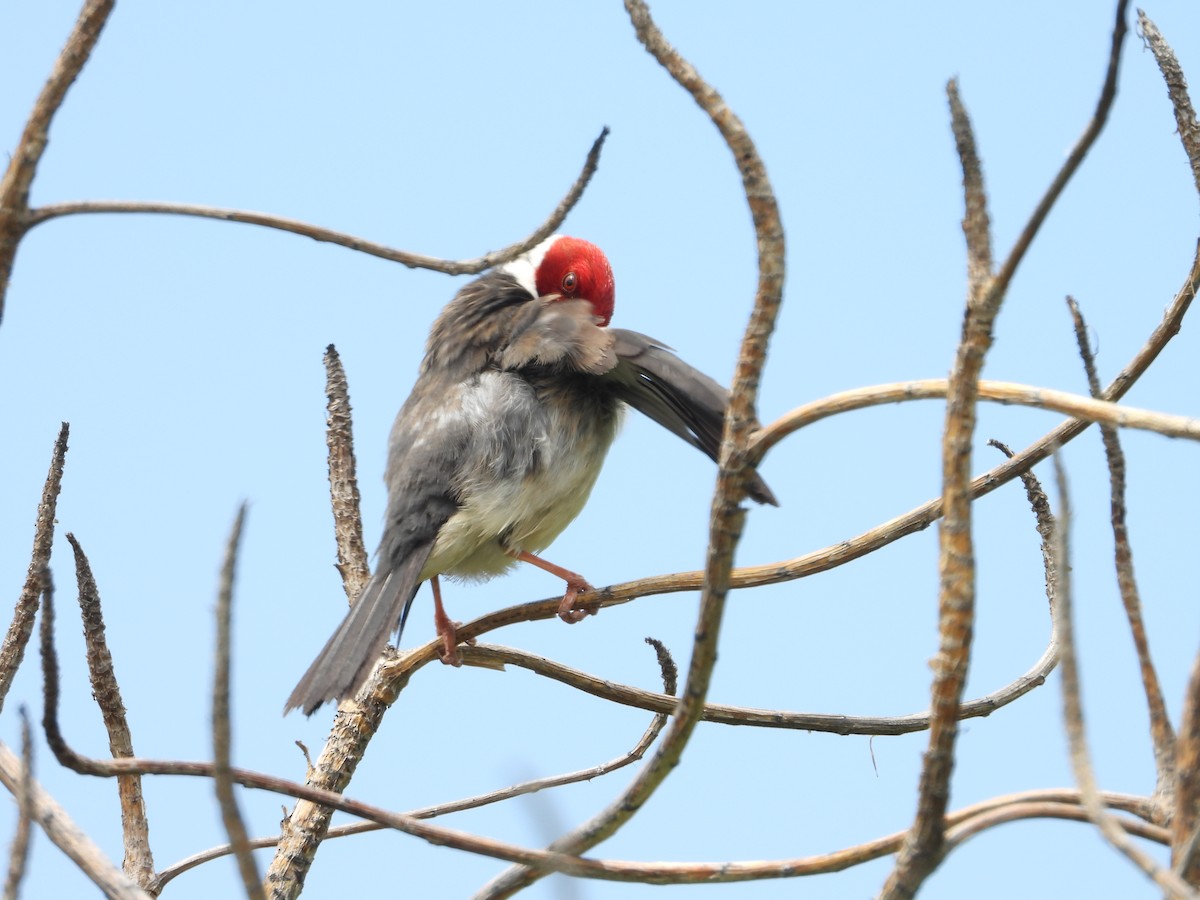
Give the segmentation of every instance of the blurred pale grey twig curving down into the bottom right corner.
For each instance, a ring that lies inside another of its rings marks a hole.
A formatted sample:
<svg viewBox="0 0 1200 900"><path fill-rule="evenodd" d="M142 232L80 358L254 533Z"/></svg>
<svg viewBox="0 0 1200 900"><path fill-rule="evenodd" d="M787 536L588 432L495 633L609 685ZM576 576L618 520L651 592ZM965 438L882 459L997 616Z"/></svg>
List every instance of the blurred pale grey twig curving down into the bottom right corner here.
<svg viewBox="0 0 1200 900"><path fill-rule="evenodd" d="M1062 718L1067 730L1067 742L1070 746L1070 766L1079 785L1080 799L1088 820L1104 835L1112 847L1123 853L1130 862L1150 876L1156 884L1172 898L1196 898L1183 881L1169 869L1160 866L1153 858L1133 845L1124 830L1104 808L1100 792L1096 785L1096 773L1092 769L1091 754L1087 749L1087 734L1084 728L1084 708L1080 698L1079 666L1075 660L1074 617L1070 593L1070 493L1067 488L1067 473L1060 456L1054 457L1055 476L1058 481L1058 529L1055 558L1058 560L1058 629L1060 672L1062 674Z"/></svg>

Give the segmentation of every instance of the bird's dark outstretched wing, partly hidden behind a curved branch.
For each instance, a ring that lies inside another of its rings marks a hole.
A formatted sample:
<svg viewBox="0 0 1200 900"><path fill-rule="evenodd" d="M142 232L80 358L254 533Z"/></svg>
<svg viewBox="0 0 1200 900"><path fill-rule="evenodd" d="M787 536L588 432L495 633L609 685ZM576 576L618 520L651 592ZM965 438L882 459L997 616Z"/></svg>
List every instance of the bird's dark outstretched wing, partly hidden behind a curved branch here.
<svg viewBox="0 0 1200 900"><path fill-rule="evenodd" d="M730 392L654 338L620 328L607 331L617 364L604 378L617 396L716 461ZM751 475L746 491L758 503L779 505L758 473Z"/></svg>

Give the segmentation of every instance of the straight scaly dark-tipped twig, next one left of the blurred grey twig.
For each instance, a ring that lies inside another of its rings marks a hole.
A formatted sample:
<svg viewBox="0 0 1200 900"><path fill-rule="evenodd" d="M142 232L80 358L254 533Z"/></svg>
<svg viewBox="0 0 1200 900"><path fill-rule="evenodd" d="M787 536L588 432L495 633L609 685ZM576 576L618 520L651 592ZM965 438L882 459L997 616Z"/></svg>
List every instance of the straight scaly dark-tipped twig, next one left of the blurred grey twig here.
<svg viewBox="0 0 1200 900"><path fill-rule="evenodd" d="M133 734L125 715L121 689L116 682L116 671L113 668L113 655L108 650L104 636L100 590L79 541L70 532L67 540L74 551L79 614L88 648L91 696L104 720L109 752L114 757L133 756ZM142 796L142 779L138 775L122 775L116 780L116 791L121 805L121 836L125 845L122 868L140 887L149 889L154 881L154 854L150 851L150 823L146 818L145 798Z"/></svg>

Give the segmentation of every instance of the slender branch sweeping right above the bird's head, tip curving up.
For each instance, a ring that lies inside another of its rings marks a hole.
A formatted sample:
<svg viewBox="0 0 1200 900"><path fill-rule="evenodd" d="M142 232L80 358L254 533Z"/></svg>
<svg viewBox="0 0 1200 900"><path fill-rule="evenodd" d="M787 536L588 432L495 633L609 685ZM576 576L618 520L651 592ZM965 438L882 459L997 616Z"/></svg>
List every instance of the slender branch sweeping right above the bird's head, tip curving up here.
<svg viewBox="0 0 1200 900"><path fill-rule="evenodd" d="M485 253L474 259L440 259L422 253L409 253L408 251L376 244L364 238L355 238L344 232L335 232L331 228L301 222L286 216L275 216L269 212L254 212L251 210L221 209L217 206L202 206L191 203L166 203L155 200L73 200L70 203L53 203L31 210L23 220L25 229L48 222L61 216L73 216L95 212L155 212L175 216L198 216L200 218L216 218L223 222L242 222L244 224L256 224L263 228L275 228L281 232L299 234L302 238L312 238L314 241L336 244L340 247L366 253L368 256L388 259L392 263L407 265L409 269L428 269L445 275L475 275L485 269L516 259L526 251L535 247L546 240L563 223L566 215L575 208L583 196L584 188L595 174L600 164L600 149L605 138L608 137L608 128L600 132L600 137L592 144L583 169L580 172L575 184L571 185L566 196L559 200L558 206L550 214L533 234L503 250Z"/></svg>

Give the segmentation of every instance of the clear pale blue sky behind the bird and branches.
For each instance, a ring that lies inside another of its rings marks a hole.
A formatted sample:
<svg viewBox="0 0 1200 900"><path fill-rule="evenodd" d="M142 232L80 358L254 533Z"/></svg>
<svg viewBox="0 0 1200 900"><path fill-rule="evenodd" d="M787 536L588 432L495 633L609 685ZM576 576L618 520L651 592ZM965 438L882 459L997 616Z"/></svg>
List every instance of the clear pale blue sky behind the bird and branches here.
<svg viewBox="0 0 1200 900"><path fill-rule="evenodd" d="M1048 8L1049 6L1049 8ZM960 79L991 198L997 254L1082 131L1108 58L1108 4L667 2L667 37L745 121L784 212L788 277L760 403L769 421L868 384L944 376L965 294L960 173L944 84ZM1200 7L1146 7L1193 80ZM60 0L0 12L0 130L12 148L76 16ZM636 42L617 2L122 2L55 120L34 185L44 204L164 199L264 210L406 250L474 257L530 232L575 178L601 127L600 170L563 230L607 252L614 324L650 334L727 380L755 286L754 236L728 151ZM1063 304L1082 305L1102 380L1136 352L1188 272L1196 194L1153 58L1130 34L1099 145L1013 283L990 378L1086 392ZM391 419L428 324L463 280L410 271L277 232L176 217L47 223L22 244L0 325L0 583L16 596L60 421L71 451L55 576L76 745L106 751L71 618L73 532L100 583L139 755L205 758L212 608L226 535L250 517L235 611L234 761L301 779L329 715L283 719L295 679L342 614L326 500L322 352L347 368L367 544L379 534ZM1128 396L1200 415L1194 329ZM985 408L990 437L1024 446L1058 421ZM763 473L782 505L755 509L738 550L768 563L850 538L940 491L940 403L823 421L776 448ZM1128 433L1129 524L1152 649L1178 718L1200 634L1196 448ZM1132 643L1111 570L1099 437L1064 452L1085 703L1103 787L1147 793L1153 767ZM1049 480L1048 467L1039 469ZM607 584L696 569L714 467L631 415L595 493L547 557ZM977 652L968 694L1024 672L1049 634L1037 535L1015 485L976 509ZM734 594L712 698L792 710L899 715L928 703L936 648L936 529L811 578ZM458 618L548 596L535 570L449 586ZM419 595L407 642L432 632ZM648 598L576 628L490 635L605 678L656 684L642 637L683 665L695 595ZM26 664L0 721L40 709ZM1057 677L967 722L952 806L1072 784ZM522 672L430 667L403 694L350 793L404 810L582 768L631 745L642 713ZM835 737L701 726L684 763L605 858L758 859L850 846L911 822L925 736ZM120 858L115 785L38 776ZM606 804L630 775L464 814L445 824L540 846ZM206 784L145 786L160 868L223 840ZM242 794L253 834L280 802ZM0 821L0 845L12 816ZM1157 852L1157 851L1156 851ZM1160 854L1162 856L1162 854ZM265 865L268 857L263 857ZM380 859L385 860L380 865ZM1007 860L996 865L997 860ZM311 896L379 886L464 896L499 865L394 834L331 842ZM865 896L890 860L800 882L706 888L722 898ZM229 860L168 889L228 895ZM28 896L85 882L35 838ZM698 889L692 889L694 892ZM574 893L571 893L574 892ZM683 893L676 889L674 893ZM641 896L647 888L551 880L532 898ZM1152 896L1086 827L1021 822L955 852L923 896ZM707 895L707 894L706 894Z"/></svg>

